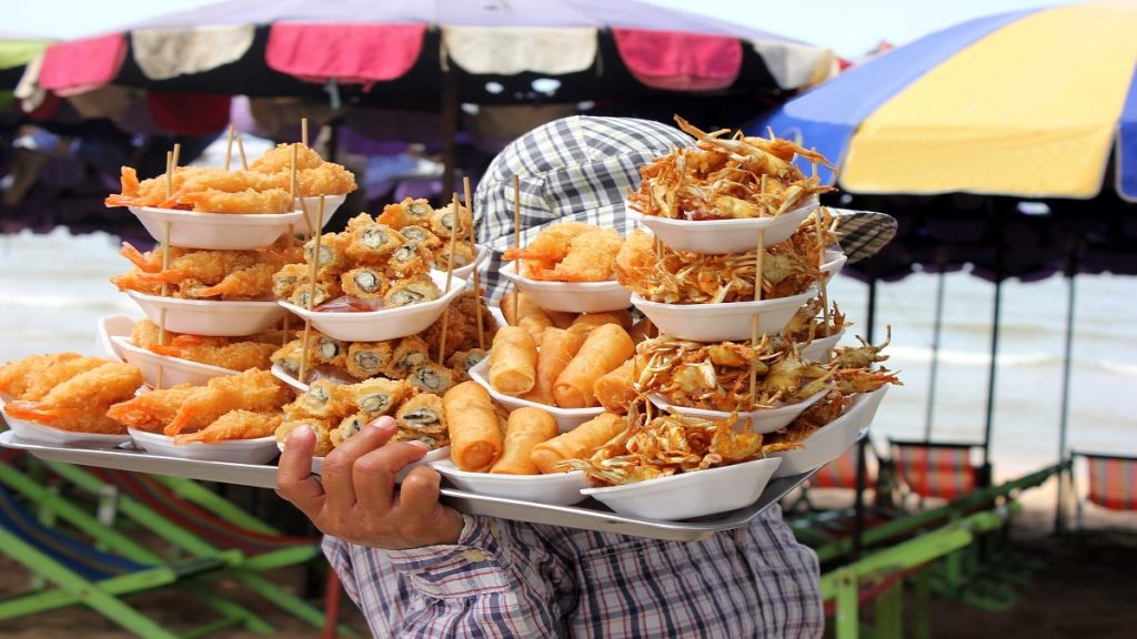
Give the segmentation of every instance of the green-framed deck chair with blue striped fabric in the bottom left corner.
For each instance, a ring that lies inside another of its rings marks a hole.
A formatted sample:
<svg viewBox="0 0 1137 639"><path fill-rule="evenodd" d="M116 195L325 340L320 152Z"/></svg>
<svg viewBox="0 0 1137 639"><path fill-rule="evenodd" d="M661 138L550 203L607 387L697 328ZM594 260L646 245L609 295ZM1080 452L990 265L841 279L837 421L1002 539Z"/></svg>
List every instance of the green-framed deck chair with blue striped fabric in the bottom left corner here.
<svg viewBox="0 0 1137 639"><path fill-rule="evenodd" d="M7 463L5 463L7 467ZM81 523L84 521L81 520ZM98 526L93 518L88 525ZM113 536L101 531L103 539ZM224 619L188 632L201 637L217 630L243 625L248 630L271 630L236 604L216 595L199 580L217 574L240 561L240 554L222 553L182 562L140 562L105 553L86 539L60 528L49 528L0 484L0 551L22 564L50 587L0 599L0 621L73 605L88 606L130 632L150 639L175 639L163 628L122 599L123 596L164 587L180 587L206 600Z"/></svg>

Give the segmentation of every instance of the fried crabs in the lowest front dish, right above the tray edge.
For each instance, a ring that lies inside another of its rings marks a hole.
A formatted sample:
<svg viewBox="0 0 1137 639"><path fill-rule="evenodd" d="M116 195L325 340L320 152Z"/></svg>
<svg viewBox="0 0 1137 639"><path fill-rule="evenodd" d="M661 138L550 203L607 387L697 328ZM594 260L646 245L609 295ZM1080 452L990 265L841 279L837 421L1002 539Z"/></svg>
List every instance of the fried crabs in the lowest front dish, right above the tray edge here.
<svg viewBox="0 0 1137 639"><path fill-rule="evenodd" d="M632 405L626 429L587 458L564 465L583 471L594 486L633 483L675 473L740 464L762 455L762 435L737 416L708 420L680 414L653 418L645 400Z"/></svg>

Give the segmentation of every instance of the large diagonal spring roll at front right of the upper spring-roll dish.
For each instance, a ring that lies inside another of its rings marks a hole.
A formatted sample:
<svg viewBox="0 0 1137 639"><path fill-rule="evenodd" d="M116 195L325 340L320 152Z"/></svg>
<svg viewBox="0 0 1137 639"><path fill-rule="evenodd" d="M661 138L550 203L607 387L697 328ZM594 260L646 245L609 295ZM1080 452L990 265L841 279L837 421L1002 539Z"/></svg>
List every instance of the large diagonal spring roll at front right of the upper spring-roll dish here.
<svg viewBox="0 0 1137 639"><path fill-rule="evenodd" d="M620 367L634 350L628 331L619 324L597 326L553 384L553 399L561 408L598 406L592 390L596 380Z"/></svg>

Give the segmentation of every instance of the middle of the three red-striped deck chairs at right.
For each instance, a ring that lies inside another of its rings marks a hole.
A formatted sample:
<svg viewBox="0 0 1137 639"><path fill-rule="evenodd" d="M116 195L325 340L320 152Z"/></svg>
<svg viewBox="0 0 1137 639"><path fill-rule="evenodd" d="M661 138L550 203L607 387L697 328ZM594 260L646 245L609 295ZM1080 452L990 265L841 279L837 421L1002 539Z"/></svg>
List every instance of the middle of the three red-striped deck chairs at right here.
<svg viewBox="0 0 1137 639"><path fill-rule="evenodd" d="M889 439L889 448L901 483L919 497L921 507L928 497L951 501L979 487L979 467L972 462L976 445Z"/></svg>

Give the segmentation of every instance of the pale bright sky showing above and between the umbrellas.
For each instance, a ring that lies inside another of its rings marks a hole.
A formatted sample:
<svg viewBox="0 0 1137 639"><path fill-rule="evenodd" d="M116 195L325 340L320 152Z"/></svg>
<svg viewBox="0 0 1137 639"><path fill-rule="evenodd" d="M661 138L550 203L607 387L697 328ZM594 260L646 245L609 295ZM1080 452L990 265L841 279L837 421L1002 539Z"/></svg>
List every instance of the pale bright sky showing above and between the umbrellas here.
<svg viewBox="0 0 1137 639"><path fill-rule="evenodd" d="M264 0L252 0L264 1ZM313 0L317 1L317 0ZM379 0L376 0L379 1ZM619 1L619 0L613 0ZM647 0L702 13L856 59L887 40L903 44L953 24L990 14L1064 3L1059 0ZM116 31L147 18L192 9L214 0L35 0L7 11L0 31L81 38Z"/></svg>

